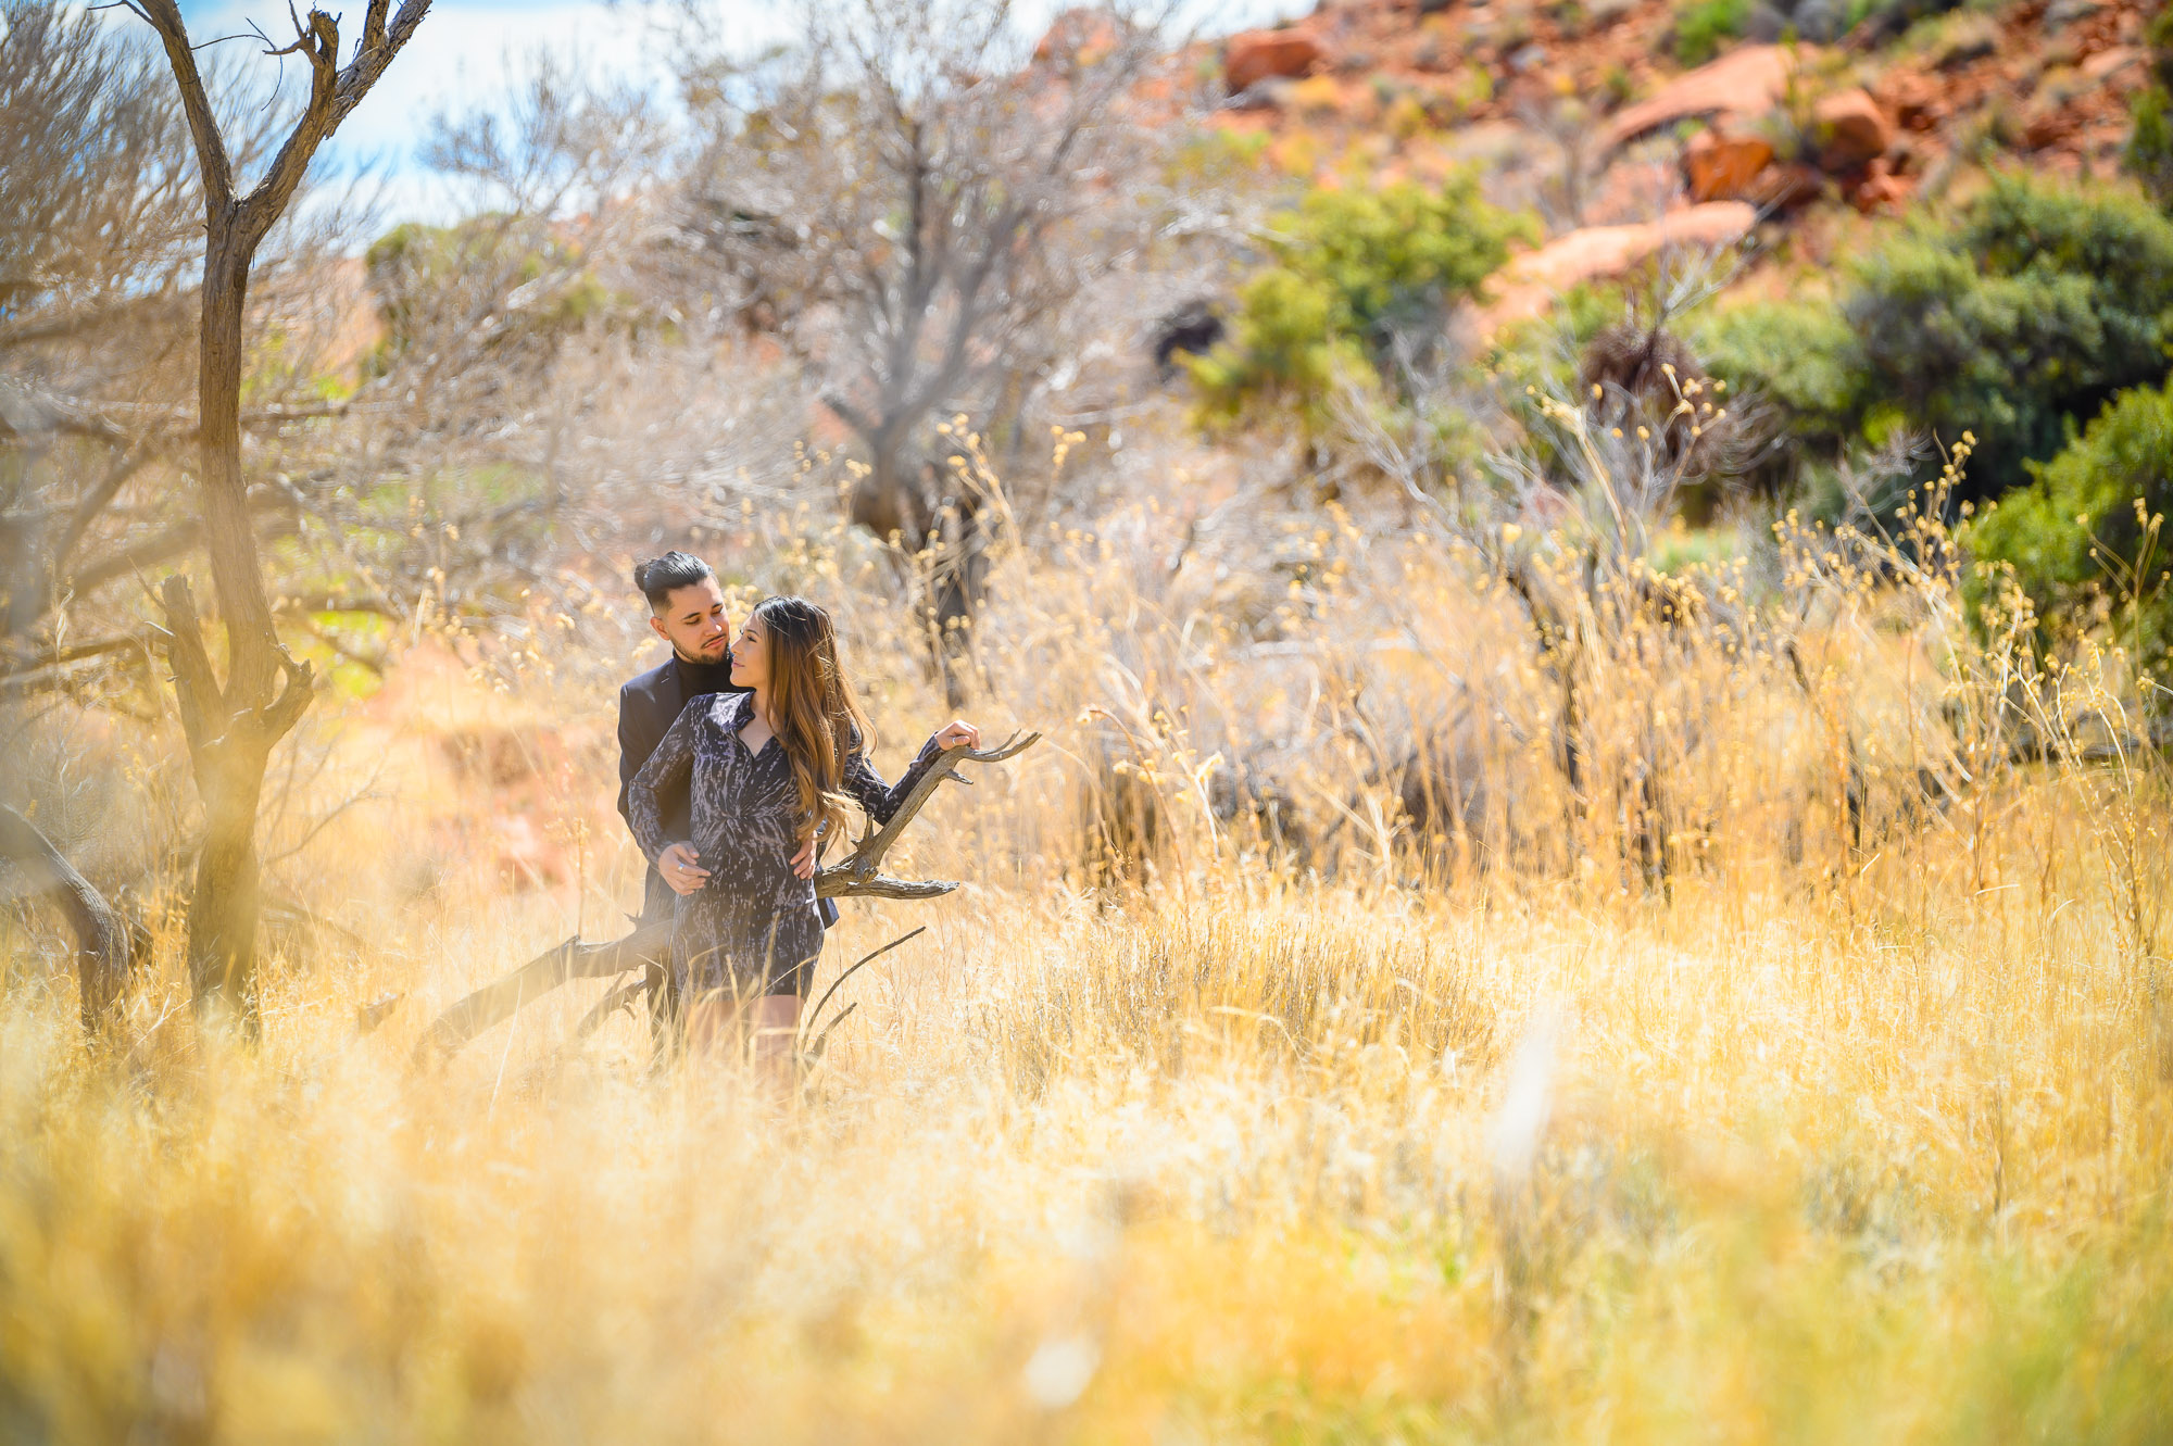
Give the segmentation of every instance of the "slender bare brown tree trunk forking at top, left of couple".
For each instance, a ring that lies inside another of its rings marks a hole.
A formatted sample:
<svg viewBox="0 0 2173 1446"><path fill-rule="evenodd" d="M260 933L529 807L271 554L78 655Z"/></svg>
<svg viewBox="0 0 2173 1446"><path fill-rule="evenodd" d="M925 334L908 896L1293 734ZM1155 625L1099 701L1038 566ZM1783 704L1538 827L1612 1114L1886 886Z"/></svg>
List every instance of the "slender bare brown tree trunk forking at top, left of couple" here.
<svg viewBox="0 0 2173 1446"><path fill-rule="evenodd" d="M163 591L167 654L180 703L189 762L204 799L204 845L189 899L189 984L198 1012L239 1010L256 1031L256 801L272 747L287 736L315 684L278 640L265 597L241 475L241 317L250 265L287 211L317 148L361 104L409 43L430 0L369 0L361 43L339 63L339 22L313 9L296 39L269 54L309 65L309 100L263 178L237 191L219 117L196 65L196 46L176 0L124 0L165 46L196 145L204 191L204 278L198 332L198 486L211 582L226 623L226 684L204 649L187 582Z"/></svg>

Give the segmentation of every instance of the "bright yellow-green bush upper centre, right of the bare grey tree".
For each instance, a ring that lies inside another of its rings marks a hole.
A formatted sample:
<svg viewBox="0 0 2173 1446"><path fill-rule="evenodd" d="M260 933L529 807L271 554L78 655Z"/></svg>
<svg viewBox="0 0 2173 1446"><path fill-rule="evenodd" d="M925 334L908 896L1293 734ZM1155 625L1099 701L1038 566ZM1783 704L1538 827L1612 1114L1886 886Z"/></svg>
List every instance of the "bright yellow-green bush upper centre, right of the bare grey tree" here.
<svg viewBox="0 0 2173 1446"><path fill-rule="evenodd" d="M1291 404L1319 432L1339 373L1378 386L1397 337L1441 334L1452 304L1473 297L1530 221L1454 176L1312 191L1271 243L1271 265L1239 293L1230 339L1186 365L1202 417L1234 421L1260 402Z"/></svg>

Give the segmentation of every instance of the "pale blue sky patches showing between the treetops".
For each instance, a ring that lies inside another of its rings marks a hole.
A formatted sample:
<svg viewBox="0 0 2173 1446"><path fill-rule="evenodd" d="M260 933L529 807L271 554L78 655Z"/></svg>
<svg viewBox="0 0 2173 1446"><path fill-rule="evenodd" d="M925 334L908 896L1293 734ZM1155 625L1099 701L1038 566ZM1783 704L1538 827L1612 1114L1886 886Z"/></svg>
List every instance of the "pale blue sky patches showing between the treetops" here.
<svg viewBox="0 0 2173 1446"><path fill-rule="evenodd" d="M1039 28L1067 2L1071 0L1023 0L1019 13ZM346 37L361 22L365 0L317 4L341 15ZM298 0L296 9L306 9L306 0ZM1280 15L1302 15L1312 9L1312 0L1191 0L1184 9L1184 24L1219 35ZM285 0L183 0L180 11L198 43L248 35L252 20L282 43L293 30ZM319 152L317 165L356 167L374 161L385 176L380 206L387 221L445 219L459 211L456 200L415 163L415 145L432 115L493 104L539 50L574 61L598 78L645 78L661 85L663 76L645 59L645 50L663 13L652 0L437 0L415 41ZM774 0L717 0L717 13L737 41L758 48L789 35L793 9ZM143 24L126 11L106 15ZM235 41L233 48L248 50L248 41Z"/></svg>

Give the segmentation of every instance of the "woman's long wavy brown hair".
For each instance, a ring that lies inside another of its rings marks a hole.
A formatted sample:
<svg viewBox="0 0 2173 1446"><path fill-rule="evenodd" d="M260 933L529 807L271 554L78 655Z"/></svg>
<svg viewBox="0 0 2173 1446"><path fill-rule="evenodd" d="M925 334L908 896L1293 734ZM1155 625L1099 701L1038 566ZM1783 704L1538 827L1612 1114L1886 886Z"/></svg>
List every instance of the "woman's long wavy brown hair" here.
<svg viewBox="0 0 2173 1446"><path fill-rule="evenodd" d="M876 734L837 660L830 614L804 597L769 597L754 608L769 634L769 710L778 745L800 788L800 838L845 825L845 762L876 747Z"/></svg>

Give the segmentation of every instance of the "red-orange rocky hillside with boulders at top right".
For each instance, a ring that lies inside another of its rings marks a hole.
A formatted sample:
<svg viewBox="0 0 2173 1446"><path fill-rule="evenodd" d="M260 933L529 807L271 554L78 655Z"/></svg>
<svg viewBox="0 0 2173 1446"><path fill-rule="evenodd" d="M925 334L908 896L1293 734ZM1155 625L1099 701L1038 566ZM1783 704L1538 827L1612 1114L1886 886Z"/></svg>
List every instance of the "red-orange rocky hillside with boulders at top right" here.
<svg viewBox="0 0 2173 1446"><path fill-rule="evenodd" d="M1263 137L1289 176L1478 163L1495 200L1536 208L1547 243L1497 278L1486 328L1671 241L1838 204L1891 213L2001 158L2069 178L2117 167L2145 83L2138 0L1914 17L1786 2L1330 0L1199 65L1228 91L1215 124Z"/></svg>

